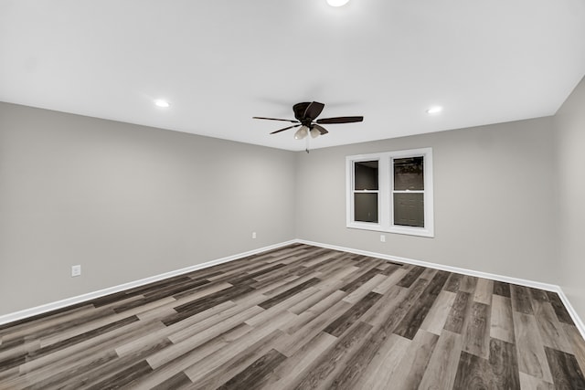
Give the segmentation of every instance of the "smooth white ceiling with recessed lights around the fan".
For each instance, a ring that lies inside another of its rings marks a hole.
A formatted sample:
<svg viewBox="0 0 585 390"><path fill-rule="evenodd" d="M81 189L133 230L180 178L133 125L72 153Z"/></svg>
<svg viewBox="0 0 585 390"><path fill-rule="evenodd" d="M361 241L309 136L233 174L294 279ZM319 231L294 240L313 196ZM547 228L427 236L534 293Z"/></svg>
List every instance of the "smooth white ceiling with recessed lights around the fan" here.
<svg viewBox="0 0 585 390"><path fill-rule="evenodd" d="M320 148L551 115L584 74L584 0L0 0L0 100L288 150L251 117L364 115Z"/></svg>

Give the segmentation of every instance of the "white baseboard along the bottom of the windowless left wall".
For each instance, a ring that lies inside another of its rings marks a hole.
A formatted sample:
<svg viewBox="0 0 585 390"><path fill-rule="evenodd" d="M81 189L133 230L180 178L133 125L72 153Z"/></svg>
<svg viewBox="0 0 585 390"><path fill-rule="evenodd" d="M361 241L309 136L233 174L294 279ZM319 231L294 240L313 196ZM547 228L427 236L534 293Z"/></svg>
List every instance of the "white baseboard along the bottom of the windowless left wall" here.
<svg viewBox="0 0 585 390"><path fill-rule="evenodd" d="M34 308L26 309L23 311L16 311L13 313L8 313L8 314L0 316L0 325L3 325L3 324L8 323L8 322L23 320L23 319L28 318L28 317L33 317L33 316L36 316L38 314L46 313L48 311L54 311L54 310L61 309L61 308L67 307L67 306L75 305L75 304L78 304L78 303L81 303L81 302L84 302L87 300L95 300L96 298L100 298L100 297L103 297L103 296L106 296L109 294L113 294L114 292L120 292L122 290L130 290L130 289L133 289L134 287L144 286L145 284L152 283L154 281L172 278L174 276L182 275L182 274L185 274L188 272L192 272L192 271L195 271L197 269L207 269L208 267L212 267L212 266L215 266L215 265L218 265L221 263L233 261L233 260L236 260L238 258L245 258L247 256L251 256L251 255L261 253L261 252L265 252L267 250L281 248L281 247L284 247L286 245L294 244L295 242L296 242L296 240L291 240L291 241L281 242L279 244L270 245L268 247L252 249L252 250L249 250L247 252L242 252L242 253L239 253L236 255L228 256L226 258L217 258L215 260L207 261L205 263L196 264L196 265L191 266L191 267L186 267L185 269L176 269L174 271L165 272L165 273L160 274L160 275L154 275L154 276L149 277L149 278L134 280L134 281L131 281L128 283L123 283L123 284L118 285L118 286L109 287L107 289L88 292L87 294L82 294L82 295L79 295L77 297L72 297L72 298L68 298L65 300L58 300L56 302L50 302L50 303L40 305L40 306L37 306Z"/></svg>

